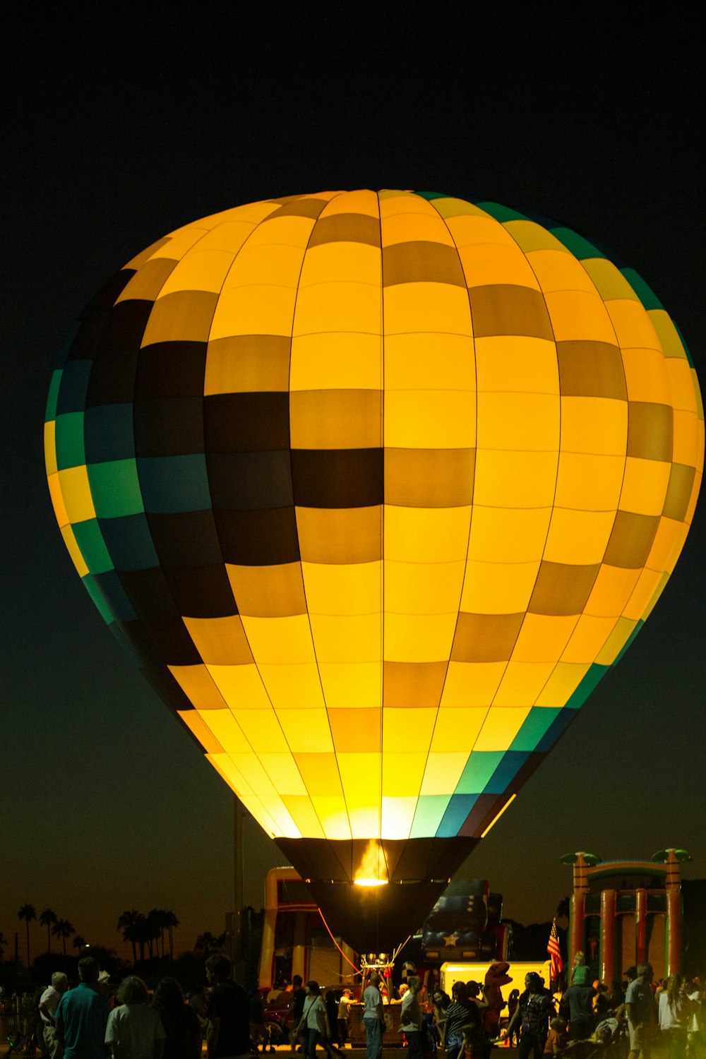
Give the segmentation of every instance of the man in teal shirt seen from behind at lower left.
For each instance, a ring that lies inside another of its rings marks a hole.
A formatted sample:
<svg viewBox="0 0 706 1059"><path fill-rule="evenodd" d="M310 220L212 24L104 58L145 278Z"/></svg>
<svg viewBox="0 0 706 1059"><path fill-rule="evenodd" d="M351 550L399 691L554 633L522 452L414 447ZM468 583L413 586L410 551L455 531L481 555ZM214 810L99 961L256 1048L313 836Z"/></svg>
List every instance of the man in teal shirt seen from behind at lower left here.
<svg viewBox="0 0 706 1059"><path fill-rule="evenodd" d="M98 991L101 968L93 956L78 961L79 982L59 1000L55 1015L56 1040L65 1056L105 1059L108 1002Z"/></svg>

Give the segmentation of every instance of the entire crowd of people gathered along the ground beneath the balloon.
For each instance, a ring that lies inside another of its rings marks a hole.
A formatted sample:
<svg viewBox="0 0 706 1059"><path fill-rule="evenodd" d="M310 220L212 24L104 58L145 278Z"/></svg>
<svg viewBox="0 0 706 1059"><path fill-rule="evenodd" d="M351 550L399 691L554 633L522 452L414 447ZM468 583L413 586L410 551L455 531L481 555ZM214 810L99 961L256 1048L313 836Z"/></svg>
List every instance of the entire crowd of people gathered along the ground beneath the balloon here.
<svg viewBox="0 0 706 1059"><path fill-rule="evenodd" d="M512 981L509 965L490 966L502 972L494 985L490 975L484 983L454 982L450 997L435 970L428 971L423 981L408 973L398 988L377 971L370 973L360 997L366 1059L382 1059L390 1024L385 1010L391 1004L400 1005L398 1031L406 1044L406 1059L433 1059L441 1052L446 1059L488 1059L493 1044L505 1042L517 1046L520 1059L546 1055L584 1059L601 1054L607 1059L652 1059L658 1038L665 1059L689 1059L695 1057L696 1041L706 1028L706 997L700 981L672 974L655 983L649 964L628 968L624 980L609 988L591 982L590 968L578 953L557 991L530 972L524 990L513 988L507 1003L497 981L504 985ZM150 993L140 977L113 982L95 959L85 957L78 962L79 982L73 989L66 974L57 972L37 998L38 1036L28 1040L32 1046L25 1052L35 1054L36 1043L46 1059L197 1059L204 1039L209 1059L245 1059L257 1053L259 1042L265 1051L266 1015L259 993L251 998L233 981L230 961L221 954L209 957L205 972L207 986L186 1000L173 977L162 979ZM268 999L280 1004L282 995ZM324 994L315 981L305 985L294 975L284 997L291 1016L285 1019L291 1025L291 1052L314 1059L321 1046L329 1059L340 1056L350 1006L357 1003L352 990Z"/></svg>

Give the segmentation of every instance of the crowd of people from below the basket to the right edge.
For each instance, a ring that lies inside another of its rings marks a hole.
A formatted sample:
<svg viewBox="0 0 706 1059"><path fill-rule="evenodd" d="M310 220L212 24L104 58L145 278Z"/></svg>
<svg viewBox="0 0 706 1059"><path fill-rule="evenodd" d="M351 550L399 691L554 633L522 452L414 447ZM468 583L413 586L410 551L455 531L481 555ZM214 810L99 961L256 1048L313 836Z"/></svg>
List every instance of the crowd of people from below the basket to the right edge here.
<svg viewBox="0 0 706 1059"><path fill-rule="evenodd" d="M504 965L507 967L507 965ZM373 974L363 992L366 1059L381 1059L384 1007L380 976ZM477 982L454 983L451 997L440 988L427 994L417 975L400 987L400 1031L408 1059L429 1059L443 1048L447 1059L487 1059L493 1044L507 1042L520 1059L566 1055L571 1059L604 1055L615 1059L651 1059L660 1041L665 1059L689 1059L706 1028L706 995L700 980L672 974L653 982L649 964L630 967L623 981L590 981L583 955L577 955L568 984L551 992L530 972L524 990L512 989L499 1009L491 991ZM500 1012L507 1025L499 1029Z"/></svg>

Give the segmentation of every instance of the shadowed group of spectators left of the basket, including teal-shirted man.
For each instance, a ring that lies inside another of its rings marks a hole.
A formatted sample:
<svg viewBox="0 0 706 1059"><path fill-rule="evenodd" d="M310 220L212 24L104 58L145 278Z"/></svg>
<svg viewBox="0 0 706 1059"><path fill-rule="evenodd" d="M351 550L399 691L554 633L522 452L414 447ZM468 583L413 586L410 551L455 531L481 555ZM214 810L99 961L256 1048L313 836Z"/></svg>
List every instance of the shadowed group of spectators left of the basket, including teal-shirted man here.
<svg viewBox="0 0 706 1059"><path fill-rule="evenodd" d="M24 1052L36 1055L38 1046L46 1059L197 1059L205 1038L209 1059L248 1056L251 999L220 953L206 959L205 973L207 990L187 1001L176 979L162 979L150 993L137 975L113 982L86 956L73 989L66 974L52 975Z"/></svg>

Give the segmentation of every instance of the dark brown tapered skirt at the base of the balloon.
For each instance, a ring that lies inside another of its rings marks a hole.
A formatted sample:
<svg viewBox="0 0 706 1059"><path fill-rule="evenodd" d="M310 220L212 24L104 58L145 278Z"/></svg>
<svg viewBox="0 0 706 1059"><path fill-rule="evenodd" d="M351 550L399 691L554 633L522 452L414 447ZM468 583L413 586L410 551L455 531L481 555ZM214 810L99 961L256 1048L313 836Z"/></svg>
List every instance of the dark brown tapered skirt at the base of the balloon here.
<svg viewBox="0 0 706 1059"><path fill-rule="evenodd" d="M398 841L277 839L337 937L357 952L393 951L421 927L474 838ZM366 872L385 885L355 883Z"/></svg>

